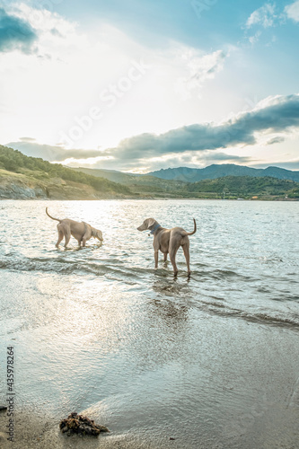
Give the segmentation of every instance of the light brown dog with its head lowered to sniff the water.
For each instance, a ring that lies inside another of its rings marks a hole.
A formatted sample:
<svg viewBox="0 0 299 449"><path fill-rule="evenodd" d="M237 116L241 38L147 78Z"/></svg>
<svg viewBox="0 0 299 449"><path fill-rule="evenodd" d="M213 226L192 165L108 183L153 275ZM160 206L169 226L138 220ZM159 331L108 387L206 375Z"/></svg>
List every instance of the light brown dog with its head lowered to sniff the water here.
<svg viewBox="0 0 299 449"><path fill-rule="evenodd" d="M58 248L59 243L65 237L65 247L69 242L71 235L75 237L75 240L78 241L79 246L85 246L87 240L94 237L95 239L100 240L102 242L102 233L99 229L95 229L91 225L88 225L84 222L75 222L74 220L69 220L68 218L64 218L63 220L59 220L59 218L54 218L54 216L50 216L48 214L48 207L46 207L46 214L52 218L52 220L57 220L57 231L58 231L58 240L56 247Z"/></svg>

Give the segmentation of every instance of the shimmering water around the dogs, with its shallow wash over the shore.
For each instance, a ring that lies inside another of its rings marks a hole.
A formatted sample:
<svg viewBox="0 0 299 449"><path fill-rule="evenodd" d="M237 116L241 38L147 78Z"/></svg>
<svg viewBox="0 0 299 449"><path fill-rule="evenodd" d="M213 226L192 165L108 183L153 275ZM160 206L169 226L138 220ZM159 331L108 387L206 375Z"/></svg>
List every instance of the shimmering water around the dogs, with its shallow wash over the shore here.
<svg viewBox="0 0 299 449"><path fill-rule="evenodd" d="M104 242L57 250L45 207ZM181 250L177 278L162 254L154 269L147 217L196 218L190 278ZM299 446L299 202L7 200L0 221L20 413L84 410L111 430L99 447Z"/></svg>

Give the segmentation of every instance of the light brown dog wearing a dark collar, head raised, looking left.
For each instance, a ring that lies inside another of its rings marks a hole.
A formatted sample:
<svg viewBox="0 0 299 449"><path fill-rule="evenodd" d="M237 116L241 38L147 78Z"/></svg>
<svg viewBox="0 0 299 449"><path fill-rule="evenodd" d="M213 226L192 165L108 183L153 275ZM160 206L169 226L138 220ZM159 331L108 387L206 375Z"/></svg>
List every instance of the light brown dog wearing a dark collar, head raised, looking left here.
<svg viewBox="0 0 299 449"><path fill-rule="evenodd" d="M158 268L158 253L159 250L164 254L164 262L167 260L167 254L169 253L171 264L173 267L174 276L178 274L178 268L175 263L175 255L182 247L187 263L188 276L190 276L190 256L189 256L189 235L197 232L197 224L194 221L194 231L187 233L181 227L172 227L171 229L165 229L154 218L146 218L144 223L137 227L138 231L146 231L149 229L154 235L154 268Z"/></svg>

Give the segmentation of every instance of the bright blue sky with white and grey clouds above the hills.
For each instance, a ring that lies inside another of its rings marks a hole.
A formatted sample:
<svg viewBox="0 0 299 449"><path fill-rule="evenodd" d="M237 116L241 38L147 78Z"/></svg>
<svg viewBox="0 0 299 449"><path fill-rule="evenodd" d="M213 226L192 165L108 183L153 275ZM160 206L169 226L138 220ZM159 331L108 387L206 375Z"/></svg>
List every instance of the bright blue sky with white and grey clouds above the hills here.
<svg viewBox="0 0 299 449"><path fill-rule="evenodd" d="M0 0L0 144L71 167L299 170L299 0Z"/></svg>

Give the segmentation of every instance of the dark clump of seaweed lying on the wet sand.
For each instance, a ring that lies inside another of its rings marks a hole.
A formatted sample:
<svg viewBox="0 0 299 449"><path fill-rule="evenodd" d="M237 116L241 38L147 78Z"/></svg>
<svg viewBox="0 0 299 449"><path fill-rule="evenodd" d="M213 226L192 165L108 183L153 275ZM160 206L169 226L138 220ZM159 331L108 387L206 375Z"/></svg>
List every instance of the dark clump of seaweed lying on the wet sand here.
<svg viewBox="0 0 299 449"><path fill-rule="evenodd" d="M78 434L81 436L92 435L99 436L101 432L109 432L109 429L104 426L94 424L90 418L71 413L67 418L62 419L59 424L60 430L63 434L68 436Z"/></svg>

